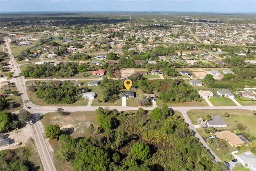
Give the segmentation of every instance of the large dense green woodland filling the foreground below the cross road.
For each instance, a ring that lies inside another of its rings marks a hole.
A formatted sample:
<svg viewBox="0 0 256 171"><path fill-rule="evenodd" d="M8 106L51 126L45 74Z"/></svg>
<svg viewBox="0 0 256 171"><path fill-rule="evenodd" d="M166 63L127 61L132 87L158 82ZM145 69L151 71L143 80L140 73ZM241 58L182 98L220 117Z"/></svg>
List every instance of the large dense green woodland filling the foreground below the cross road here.
<svg viewBox="0 0 256 171"><path fill-rule="evenodd" d="M97 134L78 139L60 135L58 158L70 161L75 171L222 170L222 163L212 163L213 156L182 118L170 114L166 106L159 109L165 113L161 123L144 112L128 114L99 107Z"/></svg>

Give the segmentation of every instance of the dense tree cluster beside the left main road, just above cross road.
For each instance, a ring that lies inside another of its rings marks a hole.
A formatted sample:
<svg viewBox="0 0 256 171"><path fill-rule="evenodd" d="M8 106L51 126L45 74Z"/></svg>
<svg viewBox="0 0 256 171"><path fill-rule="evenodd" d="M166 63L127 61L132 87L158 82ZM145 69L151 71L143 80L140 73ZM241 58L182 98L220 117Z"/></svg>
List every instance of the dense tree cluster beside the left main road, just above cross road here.
<svg viewBox="0 0 256 171"><path fill-rule="evenodd" d="M42 85L48 85L45 82ZM38 86L36 87L36 96L46 103L66 103L71 104L76 101L78 95L78 87L70 81L63 81L62 85Z"/></svg>

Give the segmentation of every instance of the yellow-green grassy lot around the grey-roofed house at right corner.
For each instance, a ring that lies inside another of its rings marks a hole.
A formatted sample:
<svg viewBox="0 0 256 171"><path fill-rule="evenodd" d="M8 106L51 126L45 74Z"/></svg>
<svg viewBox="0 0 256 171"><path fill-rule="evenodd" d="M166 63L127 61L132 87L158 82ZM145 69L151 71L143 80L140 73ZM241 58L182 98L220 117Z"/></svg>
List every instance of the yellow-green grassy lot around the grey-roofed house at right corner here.
<svg viewBox="0 0 256 171"><path fill-rule="evenodd" d="M230 117L226 118L224 113L228 112ZM246 132L250 133L250 135L256 137L256 117L252 119L252 111L246 109L208 109L208 110L190 110L187 112L188 117L194 124L198 124L197 119L203 118L205 115L220 115L226 123L228 123L228 127L219 127L218 129L238 129L237 124L242 123L245 127L247 127ZM201 128L200 128L201 129ZM234 131L234 130L233 130ZM200 132L199 132L200 133ZM240 133L236 130L235 133ZM202 135L202 137L207 137Z"/></svg>

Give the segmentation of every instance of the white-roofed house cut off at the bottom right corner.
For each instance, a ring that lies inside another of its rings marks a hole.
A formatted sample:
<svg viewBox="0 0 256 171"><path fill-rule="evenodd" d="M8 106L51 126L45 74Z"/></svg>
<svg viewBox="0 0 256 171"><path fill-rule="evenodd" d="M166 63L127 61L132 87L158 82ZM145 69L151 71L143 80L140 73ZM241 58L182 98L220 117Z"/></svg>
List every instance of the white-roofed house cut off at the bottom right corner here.
<svg viewBox="0 0 256 171"><path fill-rule="evenodd" d="M247 151L236 155L236 157L243 165L247 164L251 171L256 171L256 155L252 154L252 152Z"/></svg>

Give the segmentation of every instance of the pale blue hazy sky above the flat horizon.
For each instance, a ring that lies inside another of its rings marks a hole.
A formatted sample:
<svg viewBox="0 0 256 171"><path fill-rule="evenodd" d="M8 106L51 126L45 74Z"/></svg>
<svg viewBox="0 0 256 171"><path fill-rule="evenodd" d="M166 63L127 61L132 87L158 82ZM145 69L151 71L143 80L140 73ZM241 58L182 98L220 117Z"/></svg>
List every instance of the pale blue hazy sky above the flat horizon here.
<svg viewBox="0 0 256 171"><path fill-rule="evenodd" d="M53 11L256 13L256 0L0 0L0 12Z"/></svg>

